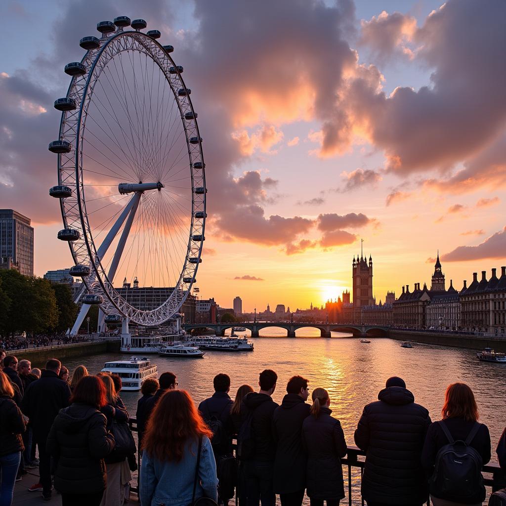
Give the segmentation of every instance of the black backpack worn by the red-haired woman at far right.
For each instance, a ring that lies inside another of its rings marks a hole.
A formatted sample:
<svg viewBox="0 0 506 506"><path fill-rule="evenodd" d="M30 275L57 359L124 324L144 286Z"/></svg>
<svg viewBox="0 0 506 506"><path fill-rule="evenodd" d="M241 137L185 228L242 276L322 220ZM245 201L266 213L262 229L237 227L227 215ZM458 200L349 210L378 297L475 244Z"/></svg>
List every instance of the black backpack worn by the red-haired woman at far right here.
<svg viewBox="0 0 506 506"><path fill-rule="evenodd" d="M430 480L431 494L440 499L463 502L477 490L485 490L481 455L471 445L480 430L475 422L466 441L455 441L443 421L438 422L449 444L436 455L434 473Z"/></svg>

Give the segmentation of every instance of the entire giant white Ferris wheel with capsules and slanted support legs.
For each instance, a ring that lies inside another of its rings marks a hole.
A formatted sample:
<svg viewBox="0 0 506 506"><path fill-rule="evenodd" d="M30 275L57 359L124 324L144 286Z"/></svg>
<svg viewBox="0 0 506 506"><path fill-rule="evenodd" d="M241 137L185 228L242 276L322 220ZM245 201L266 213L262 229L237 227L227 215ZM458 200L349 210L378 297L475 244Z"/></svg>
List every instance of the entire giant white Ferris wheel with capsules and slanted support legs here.
<svg viewBox="0 0 506 506"><path fill-rule="evenodd" d="M129 29L131 27L131 29ZM111 320L159 325L180 310L201 262L206 185L197 113L183 67L162 46L158 30L120 16L87 36L71 76L58 140L58 185L67 241L81 277L76 333L91 305L99 324ZM157 307L142 307L118 288L123 278L173 287ZM136 307L137 306L137 307Z"/></svg>

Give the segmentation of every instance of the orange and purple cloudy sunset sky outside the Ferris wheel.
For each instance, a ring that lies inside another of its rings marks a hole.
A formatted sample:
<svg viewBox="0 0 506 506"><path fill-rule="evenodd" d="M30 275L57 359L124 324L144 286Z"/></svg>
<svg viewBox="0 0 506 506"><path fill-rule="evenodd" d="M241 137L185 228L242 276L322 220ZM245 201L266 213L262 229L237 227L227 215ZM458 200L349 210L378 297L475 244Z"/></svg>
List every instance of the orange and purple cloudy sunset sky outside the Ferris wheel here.
<svg viewBox="0 0 506 506"><path fill-rule="evenodd" d="M0 207L32 219L37 275L72 263L48 195L63 67L118 15L161 31L193 91L203 298L320 305L350 289L361 238L378 301L430 284L438 249L457 289L506 265L503 0L5 0Z"/></svg>

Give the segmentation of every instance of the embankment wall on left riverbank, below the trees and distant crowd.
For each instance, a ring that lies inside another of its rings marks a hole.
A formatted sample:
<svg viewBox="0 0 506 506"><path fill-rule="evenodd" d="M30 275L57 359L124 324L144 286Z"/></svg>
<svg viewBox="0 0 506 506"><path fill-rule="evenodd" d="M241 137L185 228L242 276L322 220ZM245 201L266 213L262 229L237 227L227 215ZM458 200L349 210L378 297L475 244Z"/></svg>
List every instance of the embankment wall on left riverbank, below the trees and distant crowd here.
<svg viewBox="0 0 506 506"><path fill-rule="evenodd" d="M59 346L44 346L42 348L30 348L28 350L13 350L10 355L15 355L19 360L26 359L32 367L44 367L47 360L57 358L62 362L67 358L86 357L100 353L119 351L120 341L101 341L99 343L75 343Z"/></svg>

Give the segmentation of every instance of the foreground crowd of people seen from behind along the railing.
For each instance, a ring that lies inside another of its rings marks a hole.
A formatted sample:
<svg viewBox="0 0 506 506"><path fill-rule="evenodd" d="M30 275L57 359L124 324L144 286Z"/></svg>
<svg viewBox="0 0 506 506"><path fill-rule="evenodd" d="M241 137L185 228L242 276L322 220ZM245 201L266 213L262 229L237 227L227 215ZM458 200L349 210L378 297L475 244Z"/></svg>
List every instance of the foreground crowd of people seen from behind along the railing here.
<svg viewBox="0 0 506 506"><path fill-rule="evenodd" d="M54 486L63 506L122 506L137 450L142 506L190 506L203 498L226 505L235 494L240 506L274 506L276 495L282 506L301 506L305 494L311 506L337 506L345 497L347 437L328 391L311 392L300 375L289 379L278 405L273 370L260 373L258 391L241 385L235 399L230 377L220 373L215 393L198 408L175 373L146 379L136 448L119 376L90 375L83 365L70 376L57 359L38 371L28 360L0 358L2 506L11 504L23 470L34 466L40 483L29 490L40 490L44 500ZM434 506L482 504L491 441L472 390L449 385L441 415L432 422L397 376L363 408L353 440L366 455L361 493L368 506L421 506L429 498ZM506 430L496 452L506 468Z"/></svg>

